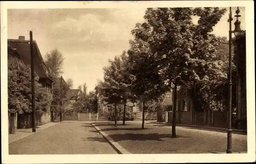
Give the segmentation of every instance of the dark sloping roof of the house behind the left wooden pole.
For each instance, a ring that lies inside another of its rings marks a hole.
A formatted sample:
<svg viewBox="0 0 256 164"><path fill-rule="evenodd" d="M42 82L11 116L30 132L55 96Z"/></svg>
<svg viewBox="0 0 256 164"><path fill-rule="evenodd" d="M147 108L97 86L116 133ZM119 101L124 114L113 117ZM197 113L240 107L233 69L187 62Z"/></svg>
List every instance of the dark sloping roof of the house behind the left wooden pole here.
<svg viewBox="0 0 256 164"><path fill-rule="evenodd" d="M18 39L8 39L8 47L11 47L13 50L15 50L19 56L20 59L25 63L25 65L30 66L31 64L31 57L30 57L30 41L29 40L18 40ZM34 70L35 73L40 78L49 78L48 76L48 68L42 59L40 50L38 48L38 45L36 41L33 41L34 46ZM11 50L9 48L9 50ZM9 53L8 53L9 54Z"/></svg>

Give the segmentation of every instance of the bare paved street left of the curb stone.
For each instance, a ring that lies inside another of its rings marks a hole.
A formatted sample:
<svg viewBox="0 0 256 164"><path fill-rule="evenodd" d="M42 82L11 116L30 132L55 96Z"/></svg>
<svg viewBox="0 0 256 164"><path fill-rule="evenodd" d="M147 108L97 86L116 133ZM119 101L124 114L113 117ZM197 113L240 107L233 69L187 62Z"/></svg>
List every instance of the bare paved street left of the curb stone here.
<svg viewBox="0 0 256 164"><path fill-rule="evenodd" d="M9 154L117 154L89 122L64 121L9 144Z"/></svg>

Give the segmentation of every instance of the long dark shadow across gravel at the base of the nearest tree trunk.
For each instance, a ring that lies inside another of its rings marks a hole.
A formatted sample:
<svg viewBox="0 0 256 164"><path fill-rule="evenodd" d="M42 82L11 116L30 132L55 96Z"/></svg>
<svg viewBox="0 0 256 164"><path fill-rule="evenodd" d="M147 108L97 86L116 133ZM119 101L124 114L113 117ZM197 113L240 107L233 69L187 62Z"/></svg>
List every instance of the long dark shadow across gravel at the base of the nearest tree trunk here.
<svg viewBox="0 0 256 164"><path fill-rule="evenodd" d="M159 133L151 133L151 134L133 134L133 133L125 133L125 134L110 134L109 135L114 141L125 141L125 140L133 140L133 141L164 141L164 138L170 139L178 139L178 138L190 138L189 136L177 135L176 138L172 138L171 134L159 134Z"/></svg>

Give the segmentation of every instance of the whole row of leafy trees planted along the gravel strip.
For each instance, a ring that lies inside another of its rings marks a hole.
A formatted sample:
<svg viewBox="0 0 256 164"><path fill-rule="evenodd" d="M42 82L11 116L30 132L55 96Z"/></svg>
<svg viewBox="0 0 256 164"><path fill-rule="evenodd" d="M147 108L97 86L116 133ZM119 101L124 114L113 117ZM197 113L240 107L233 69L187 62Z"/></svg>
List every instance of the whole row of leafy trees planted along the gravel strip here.
<svg viewBox="0 0 256 164"><path fill-rule="evenodd" d="M159 101L167 91L174 91L173 137L180 88L191 89L196 110L225 110L228 61L227 53L219 49L226 38L211 34L225 12L219 8L148 8L144 22L131 32L134 39L129 50L104 68L104 80L97 86L104 100L115 104L141 101L144 128L145 102ZM193 16L199 17L198 23L193 23Z"/></svg>

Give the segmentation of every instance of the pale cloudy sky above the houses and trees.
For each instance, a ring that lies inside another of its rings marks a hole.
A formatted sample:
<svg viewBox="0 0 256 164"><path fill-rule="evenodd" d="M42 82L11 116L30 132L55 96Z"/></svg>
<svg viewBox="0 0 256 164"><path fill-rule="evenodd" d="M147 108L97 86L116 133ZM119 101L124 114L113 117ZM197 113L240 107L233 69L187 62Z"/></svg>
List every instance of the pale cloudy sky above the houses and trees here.
<svg viewBox="0 0 256 164"><path fill-rule="evenodd" d="M236 8L232 9L234 15ZM240 8L243 30L244 9ZM145 10L12 9L8 10L7 17L8 39L25 36L29 40L29 31L33 31L42 56L57 48L65 58L63 77L73 79L74 89L86 83L91 91L97 79L103 78L102 68L108 65L108 59L129 48L131 30L137 22L143 22ZM214 34L228 37L227 19L228 12L215 26Z"/></svg>

